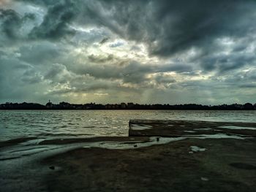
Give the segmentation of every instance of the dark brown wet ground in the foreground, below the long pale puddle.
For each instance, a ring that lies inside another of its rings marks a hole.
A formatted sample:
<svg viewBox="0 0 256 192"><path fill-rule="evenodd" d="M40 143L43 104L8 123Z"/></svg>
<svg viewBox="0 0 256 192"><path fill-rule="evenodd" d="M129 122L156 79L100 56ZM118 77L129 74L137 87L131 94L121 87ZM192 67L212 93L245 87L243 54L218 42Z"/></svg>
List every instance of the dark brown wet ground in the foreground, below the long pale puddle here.
<svg viewBox="0 0 256 192"><path fill-rule="evenodd" d="M56 168L44 178L49 191L254 191L255 151L256 139L185 139L130 150L78 148L42 164Z"/></svg>

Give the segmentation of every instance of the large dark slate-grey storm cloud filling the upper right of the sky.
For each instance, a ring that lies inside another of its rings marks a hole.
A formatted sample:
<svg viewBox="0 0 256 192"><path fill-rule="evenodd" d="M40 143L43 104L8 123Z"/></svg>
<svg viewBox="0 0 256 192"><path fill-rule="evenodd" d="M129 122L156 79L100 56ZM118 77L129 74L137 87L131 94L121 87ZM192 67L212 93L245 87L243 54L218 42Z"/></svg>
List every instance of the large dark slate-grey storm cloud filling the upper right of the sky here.
<svg viewBox="0 0 256 192"><path fill-rule="evenodd" d="M169 56L193 46L211 51L217 37L242 37L255 30L255 1L102 1L102 7L112 10L110 17L96 15L103 25L146 42L155 55ZM108 22L111 19L116 25Z"/></svg>

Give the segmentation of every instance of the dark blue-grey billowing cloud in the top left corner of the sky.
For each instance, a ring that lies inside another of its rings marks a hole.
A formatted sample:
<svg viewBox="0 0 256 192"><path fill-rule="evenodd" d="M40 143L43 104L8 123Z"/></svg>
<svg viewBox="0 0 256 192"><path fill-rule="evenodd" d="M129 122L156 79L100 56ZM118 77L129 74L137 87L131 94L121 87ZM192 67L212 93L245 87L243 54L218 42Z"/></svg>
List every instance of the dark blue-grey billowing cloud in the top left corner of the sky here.
<svg viewBox="0 0 256 192"><path fill-rule="evenodd" d="M35 5L40 5L47 9L42 20L32 28L29 34L23 36L20 27L26 25L27 20L35 20L36 16L32 13L20 15L13 9L0 9L0 30L9 39L61 39L62 37L72 36L75 30L68 25L78 15L78 7L75 1L26 1ZM28 10L29 11L29 10ZM25 26L26 27L26 26Z"/></svg>

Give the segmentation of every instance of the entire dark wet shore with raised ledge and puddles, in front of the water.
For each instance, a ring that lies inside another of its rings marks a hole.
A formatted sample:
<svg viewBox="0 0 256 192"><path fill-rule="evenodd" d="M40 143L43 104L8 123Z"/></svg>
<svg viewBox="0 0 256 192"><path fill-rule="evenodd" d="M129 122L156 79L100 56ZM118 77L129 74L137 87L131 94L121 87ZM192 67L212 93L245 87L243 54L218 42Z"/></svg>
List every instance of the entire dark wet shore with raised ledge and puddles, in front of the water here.
<svg viewBox="0 0 256 192"><path fill-rule="evenodd" d="M252 123L133 123L133 137L0 142L0 191L255 190Z"/></svg>

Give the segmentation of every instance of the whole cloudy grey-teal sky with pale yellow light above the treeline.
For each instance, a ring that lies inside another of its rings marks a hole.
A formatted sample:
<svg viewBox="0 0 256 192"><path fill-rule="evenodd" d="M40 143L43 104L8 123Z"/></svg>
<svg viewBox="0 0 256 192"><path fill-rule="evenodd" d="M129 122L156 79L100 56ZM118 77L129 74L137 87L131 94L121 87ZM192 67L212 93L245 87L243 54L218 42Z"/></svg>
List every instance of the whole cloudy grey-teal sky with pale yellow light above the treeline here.
<svg viewBox="0 0 256 192"><path fill-rule="evenodd" d="M254 0L0 0L0 103L256 103Z"/></svg>

